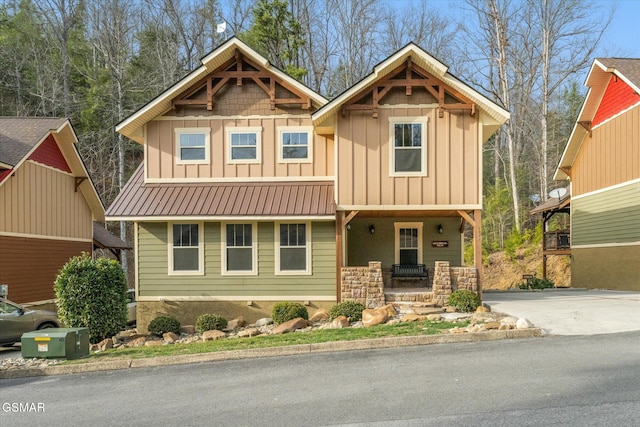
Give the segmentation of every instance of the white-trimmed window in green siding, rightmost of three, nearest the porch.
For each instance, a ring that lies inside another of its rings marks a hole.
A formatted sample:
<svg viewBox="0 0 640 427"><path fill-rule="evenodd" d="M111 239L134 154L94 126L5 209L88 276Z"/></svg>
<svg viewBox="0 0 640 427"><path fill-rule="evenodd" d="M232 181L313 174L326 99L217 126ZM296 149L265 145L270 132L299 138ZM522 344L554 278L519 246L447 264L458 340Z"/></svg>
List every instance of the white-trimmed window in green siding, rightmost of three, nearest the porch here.
<svg viewBox="0 0 640 427"><path fill-rule="evenodd" d="M311 274L311 224L276 223L276 274Z"/></svg>

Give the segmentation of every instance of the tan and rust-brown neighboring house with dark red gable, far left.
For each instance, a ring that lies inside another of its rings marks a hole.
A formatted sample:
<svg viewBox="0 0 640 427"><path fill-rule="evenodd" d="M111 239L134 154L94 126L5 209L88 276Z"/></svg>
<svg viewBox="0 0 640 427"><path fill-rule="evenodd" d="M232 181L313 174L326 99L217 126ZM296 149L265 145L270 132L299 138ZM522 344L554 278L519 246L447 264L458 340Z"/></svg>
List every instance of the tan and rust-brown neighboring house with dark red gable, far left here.
<svg viewBox="0 0 640 427"><path fill-rule="evenodd" d="M44 303L75 255L91 253L104 207L64 118L0 117L0 283L9 299Z"/></svg>

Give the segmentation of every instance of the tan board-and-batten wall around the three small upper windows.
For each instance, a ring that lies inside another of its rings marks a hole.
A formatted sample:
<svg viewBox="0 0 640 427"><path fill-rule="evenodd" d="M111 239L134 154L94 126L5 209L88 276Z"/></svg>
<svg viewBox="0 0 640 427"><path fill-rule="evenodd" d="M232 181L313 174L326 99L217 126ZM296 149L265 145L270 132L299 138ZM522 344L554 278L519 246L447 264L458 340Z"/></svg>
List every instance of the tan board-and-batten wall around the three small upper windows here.
<svg viewBox="0 0 640 427"><path fill-rule="evenodd" d="M208 164L176 164L175 129L211 129ZM228 163L227 131L236 127L259 127L261 161L259 163ZM309 127L311 118L300 117L205 117L155 120L147 124L146 165L151 179L215 179L215 178L281 178L333 176L333 140L331 136L312 132L312 162L280 162L279 129Z"/></svg>

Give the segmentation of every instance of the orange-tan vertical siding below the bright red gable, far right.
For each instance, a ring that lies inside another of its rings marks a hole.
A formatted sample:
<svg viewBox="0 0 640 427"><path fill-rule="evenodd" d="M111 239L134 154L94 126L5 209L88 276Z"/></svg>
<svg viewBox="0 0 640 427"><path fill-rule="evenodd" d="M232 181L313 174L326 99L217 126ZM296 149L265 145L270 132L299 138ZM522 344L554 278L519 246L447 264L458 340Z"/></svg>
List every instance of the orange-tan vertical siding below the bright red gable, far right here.
<svg viewBox="0 0 640 427"><path fill-rule="evenodd" d="M586 136L571 171L574 196L640 178L640 107Z"/></svg>

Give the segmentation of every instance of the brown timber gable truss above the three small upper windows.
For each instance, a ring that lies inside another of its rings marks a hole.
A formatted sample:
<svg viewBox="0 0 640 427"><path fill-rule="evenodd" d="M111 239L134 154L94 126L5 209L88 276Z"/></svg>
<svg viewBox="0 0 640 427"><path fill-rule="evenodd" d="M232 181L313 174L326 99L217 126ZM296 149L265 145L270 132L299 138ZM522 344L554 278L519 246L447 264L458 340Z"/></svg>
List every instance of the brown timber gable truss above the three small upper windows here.
<svg viewBox="0 0 640 427"><path fill-rule="evenodd" d="M174 98L173 108L177 110L183 106L201 106L212 111L216 105L216 95L226 84L234 81L238 86L247 81L258 85L269 97L271 110L275 110L276 105L299 105L304 110L311 109L311 98L308 95L257 65L238 49L234 57L217 71L194 84L190 91Z"/></svg>

